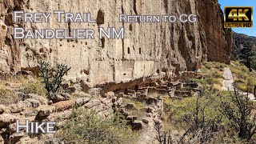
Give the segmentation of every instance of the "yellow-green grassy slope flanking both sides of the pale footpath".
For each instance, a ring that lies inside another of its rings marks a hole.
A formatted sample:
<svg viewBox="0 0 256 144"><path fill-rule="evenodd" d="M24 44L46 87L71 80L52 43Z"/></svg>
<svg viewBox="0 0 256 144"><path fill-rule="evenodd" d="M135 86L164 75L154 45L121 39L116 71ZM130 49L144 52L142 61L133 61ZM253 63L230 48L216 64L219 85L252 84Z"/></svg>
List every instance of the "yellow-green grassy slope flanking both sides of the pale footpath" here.
<svg viewBox="0 0 256 144"><path fill-rule="evenodd" d="M253 93L254 86L256 86L256 72L250 70L240 62L232 61L230 65L221 62L206 62L202 66L200 74L203 79L193 79L195 82L203 85L213 85L214 89L222 90L224 67L230 67L232 71L234 82L239 90Z"/></svg>

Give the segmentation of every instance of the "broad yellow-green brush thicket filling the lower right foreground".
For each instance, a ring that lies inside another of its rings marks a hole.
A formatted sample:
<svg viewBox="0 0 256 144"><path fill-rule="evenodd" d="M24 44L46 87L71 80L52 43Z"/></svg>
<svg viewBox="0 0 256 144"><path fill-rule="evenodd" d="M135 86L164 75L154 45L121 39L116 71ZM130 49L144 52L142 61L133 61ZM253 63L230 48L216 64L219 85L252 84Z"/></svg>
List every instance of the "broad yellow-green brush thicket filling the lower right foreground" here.
<svg viewBox="0 0 256 144"><path fill-rule="evenodd" d="M178 130L183 133L183 137L180 134L174 137L173 134L171 138L182 139L184 143L241 143L248 142L248 139L256 142L252 136L256 124L253 111L253 103L245 96L206 90L200 98L166 98L162 121L164 126L174 126L171 132ZM241 134L240 130L245 134ZM165 131L162 130L162 133Z"/></svg>

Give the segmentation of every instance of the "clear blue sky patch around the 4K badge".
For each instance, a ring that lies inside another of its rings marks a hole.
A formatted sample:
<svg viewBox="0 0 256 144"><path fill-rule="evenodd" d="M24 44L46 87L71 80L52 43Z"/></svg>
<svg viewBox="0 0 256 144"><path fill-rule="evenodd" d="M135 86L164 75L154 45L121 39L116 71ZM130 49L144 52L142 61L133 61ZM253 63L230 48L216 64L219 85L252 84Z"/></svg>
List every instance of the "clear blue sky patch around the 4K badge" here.
<svg viewBox="0 0 256 144"><path fill-rule="evenodd" d="M254 6L254 26L253 28L232 28L237 33L247 34L256 37L256 1L255 0L218 0L218 3L224 6Z"/></svg>

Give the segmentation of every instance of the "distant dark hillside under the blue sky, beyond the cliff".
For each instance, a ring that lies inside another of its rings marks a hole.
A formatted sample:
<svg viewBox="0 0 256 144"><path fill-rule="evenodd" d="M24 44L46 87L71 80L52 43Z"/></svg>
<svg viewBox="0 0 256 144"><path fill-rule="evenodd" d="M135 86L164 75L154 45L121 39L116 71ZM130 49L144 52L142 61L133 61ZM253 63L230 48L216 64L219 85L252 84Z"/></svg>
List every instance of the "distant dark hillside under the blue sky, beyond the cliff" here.
<svg viewBox="0 0 256 144"><path fill-rule="evenodd" d="M244 43L250 43L253 49L256 50L256 37L248 36L246 34L238 34L232 31L232 53L231 58L233 60L238 59L240 50L243 48Z"/></svg>

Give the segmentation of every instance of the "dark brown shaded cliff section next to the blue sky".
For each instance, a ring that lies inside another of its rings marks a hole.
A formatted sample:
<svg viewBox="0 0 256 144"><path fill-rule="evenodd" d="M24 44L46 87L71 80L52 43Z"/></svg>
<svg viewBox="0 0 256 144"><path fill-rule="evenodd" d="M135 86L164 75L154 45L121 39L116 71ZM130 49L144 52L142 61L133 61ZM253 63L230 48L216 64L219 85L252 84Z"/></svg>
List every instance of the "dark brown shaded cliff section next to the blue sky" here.
<svg viewBox="0 0 256 144"><path fill-rule="evenodd" d="M208 61L230 62L231 29L223 29L223 12L217 0L198 1L199 21L206 34Z"/></svg>

